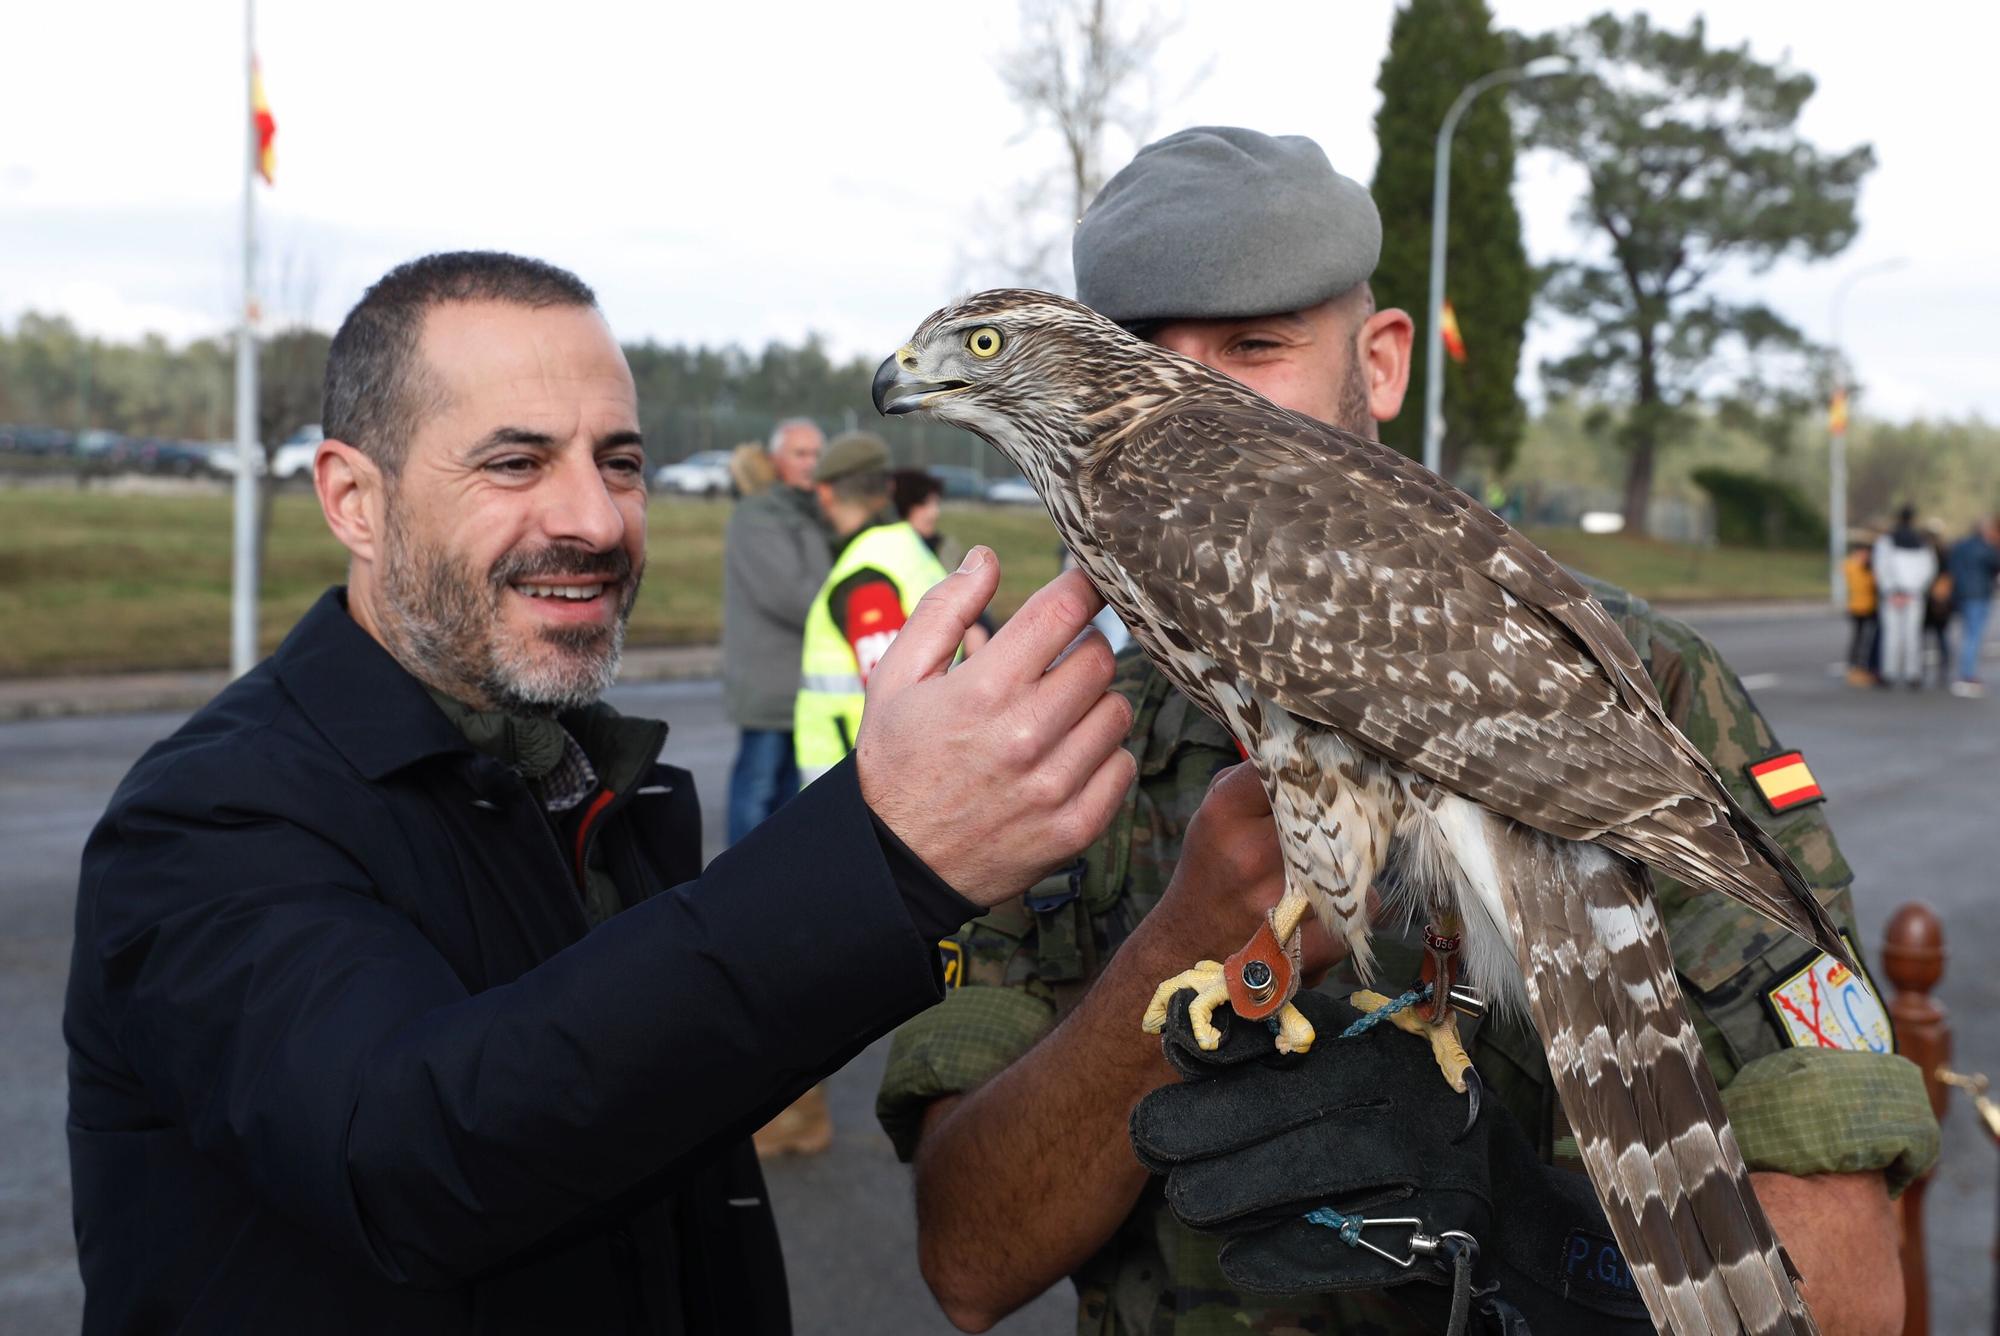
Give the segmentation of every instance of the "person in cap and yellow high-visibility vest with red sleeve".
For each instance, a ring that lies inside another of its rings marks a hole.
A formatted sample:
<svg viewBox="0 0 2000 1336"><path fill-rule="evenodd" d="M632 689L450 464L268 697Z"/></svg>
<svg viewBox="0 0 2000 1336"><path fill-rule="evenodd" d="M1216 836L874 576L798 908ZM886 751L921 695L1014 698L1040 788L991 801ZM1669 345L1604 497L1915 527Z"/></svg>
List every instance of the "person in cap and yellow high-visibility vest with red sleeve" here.
<svg viewBox="0 0 2000 1336"><path fill-rule="evenodd" d="M854 750L868 674L896 640L916 600L944 578L930 546L890 504L888 446L848 432L812 474L834 532L834 566L806 612L792 746L810 784Z"/></svg>

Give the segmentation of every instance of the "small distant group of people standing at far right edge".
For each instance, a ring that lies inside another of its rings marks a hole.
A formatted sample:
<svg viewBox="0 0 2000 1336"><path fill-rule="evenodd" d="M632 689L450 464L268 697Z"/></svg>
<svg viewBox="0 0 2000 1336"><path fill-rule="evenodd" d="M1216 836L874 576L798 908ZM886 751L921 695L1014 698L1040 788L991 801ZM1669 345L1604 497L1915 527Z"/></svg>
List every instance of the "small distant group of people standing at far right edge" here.
<svg viewBox="0 0 2000 1336"><path fill-rule="evenodd" d="M1850 686L1930 682L1954 696L1986 694L1980 648L2000 580L2000 514L1952 542L1904 506L1880 536L1850 536L1844 576Z"/></svg>

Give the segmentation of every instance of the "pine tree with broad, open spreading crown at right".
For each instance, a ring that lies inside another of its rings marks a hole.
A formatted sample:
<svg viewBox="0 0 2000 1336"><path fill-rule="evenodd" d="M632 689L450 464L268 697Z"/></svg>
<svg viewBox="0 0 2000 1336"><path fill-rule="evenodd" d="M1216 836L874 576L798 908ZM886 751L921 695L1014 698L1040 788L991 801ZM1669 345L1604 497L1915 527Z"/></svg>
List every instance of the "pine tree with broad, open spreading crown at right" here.
<svg viewBox="0 0 2000 1336"><path fill-rule="evenodd" d="M1690 434L1704 402L1782 416L1768 406L1796 400L1810 376L1772 386L1804 338L1762 302L1718 292L1718 272L1846 250L1874 150L1810 144L1798 114L1812 76L1710 46L1700 18L1680 34L1600 14L1538 46L1580 68L1524 88L1526 138L1588 174L1576 224L1594 244L1552 266L1546 304L1586 332L1542 376L1624 402L1624 514L1638 532L1660 450Z"/></svg>

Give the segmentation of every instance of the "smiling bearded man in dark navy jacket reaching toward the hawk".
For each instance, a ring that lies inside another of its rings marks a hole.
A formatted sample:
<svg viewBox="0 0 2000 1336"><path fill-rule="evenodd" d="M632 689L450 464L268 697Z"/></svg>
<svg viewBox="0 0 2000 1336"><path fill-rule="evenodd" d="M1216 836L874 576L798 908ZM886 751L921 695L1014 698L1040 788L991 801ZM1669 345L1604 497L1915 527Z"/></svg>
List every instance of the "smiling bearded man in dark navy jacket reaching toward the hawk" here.
<svg viewBox="0 0 2000 1336"><path fill-rule="evenodd" d="M624 354L580 280L390 272L334 336L284 646L84 850L64 1036L86 1332L786 1332L744 1138L942 992L936 940L1130 782L1052 582L946 676L976 550L856 756L702 872L666 726L596 702L646 564Z"/></svg>

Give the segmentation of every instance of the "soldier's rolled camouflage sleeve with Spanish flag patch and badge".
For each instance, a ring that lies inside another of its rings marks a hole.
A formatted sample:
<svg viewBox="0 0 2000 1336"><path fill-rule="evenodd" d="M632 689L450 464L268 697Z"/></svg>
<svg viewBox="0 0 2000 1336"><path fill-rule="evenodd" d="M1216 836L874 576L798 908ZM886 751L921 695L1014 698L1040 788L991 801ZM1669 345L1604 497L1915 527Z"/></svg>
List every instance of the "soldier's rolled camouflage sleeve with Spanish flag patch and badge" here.
<svg viewBox="0 0 2000 1336"><path fill-rule="evenodd" d="M1742 682L1690 626L1620 590L1592 592L1650 666L1674 724L1792 856L1858 948L1854 872L1826 806L1772 812L1750 778L1752 764L1782 748ZM1882 1170L1892 1192L1924 1172L1938 1156L1938 1124L1922 1074L1894 1052L1874 982L1726 896L1672 878L1656 878L1656 892L1744 1162L1782 1174ZM1838 1022L1830 1020L1836 1006Z"/></svg>

